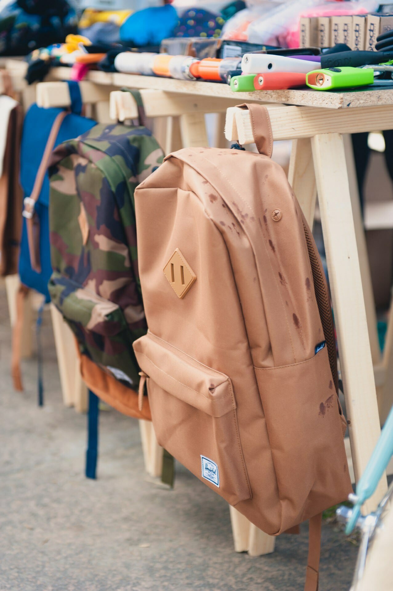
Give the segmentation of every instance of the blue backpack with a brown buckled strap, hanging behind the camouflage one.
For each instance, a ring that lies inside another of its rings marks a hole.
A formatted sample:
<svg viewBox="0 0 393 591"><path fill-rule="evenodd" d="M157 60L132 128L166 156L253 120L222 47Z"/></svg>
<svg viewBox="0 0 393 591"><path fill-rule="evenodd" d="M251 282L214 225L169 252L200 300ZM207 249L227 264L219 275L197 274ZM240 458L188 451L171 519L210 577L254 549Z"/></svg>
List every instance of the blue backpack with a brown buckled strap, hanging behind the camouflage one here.
<svg viewBox="0 0 393 591"><path fill-rule="evenodd" d="M52 274L49 243L48 162L61 142L85 133L96 122L80 115L82 100L77 82L69 82L72 112L32 105L26 113L21 144L21 186L24 191L19 274L22 284L50 301L48 281Z"/></svg>

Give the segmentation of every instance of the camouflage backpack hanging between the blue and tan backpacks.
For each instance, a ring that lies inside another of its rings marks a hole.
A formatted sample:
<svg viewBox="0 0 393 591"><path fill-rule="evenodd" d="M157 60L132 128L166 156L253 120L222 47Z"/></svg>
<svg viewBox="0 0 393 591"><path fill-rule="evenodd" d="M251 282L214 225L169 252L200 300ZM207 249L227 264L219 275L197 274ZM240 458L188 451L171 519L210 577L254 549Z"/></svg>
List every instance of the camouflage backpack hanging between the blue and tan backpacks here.
<svg viewBox="0 0 393 591"><path fill-rule="evenodd" d="M163 157L142 126L96 125L57 147L49 167L51 300L80 352L132 388L132 343L147 331L134 190Z"/></svg>

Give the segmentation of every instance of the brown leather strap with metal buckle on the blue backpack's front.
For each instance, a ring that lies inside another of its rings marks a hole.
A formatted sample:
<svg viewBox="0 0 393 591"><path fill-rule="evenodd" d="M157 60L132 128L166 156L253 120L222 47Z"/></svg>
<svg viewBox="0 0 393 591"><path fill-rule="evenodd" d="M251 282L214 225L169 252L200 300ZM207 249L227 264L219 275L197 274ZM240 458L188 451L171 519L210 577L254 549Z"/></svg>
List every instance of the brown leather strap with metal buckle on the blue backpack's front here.
<svg viewBox="0 0 393 591"><path fill-rule="evenodd" d="M43 158L41 160L40 168L38 168L37 176L35 177L33 191L30 197L25 197L23 215L26 217L27 241L30 252L31 268L39 273L41 271L40 263L40 223L38 216L35 214L34 206L40 196L43 186L45 173L48 168L49 159L56 142L57 134L63 123L64 117L68 114L67 111L61 111L53 122L48 141L44 150Z"/></svg>

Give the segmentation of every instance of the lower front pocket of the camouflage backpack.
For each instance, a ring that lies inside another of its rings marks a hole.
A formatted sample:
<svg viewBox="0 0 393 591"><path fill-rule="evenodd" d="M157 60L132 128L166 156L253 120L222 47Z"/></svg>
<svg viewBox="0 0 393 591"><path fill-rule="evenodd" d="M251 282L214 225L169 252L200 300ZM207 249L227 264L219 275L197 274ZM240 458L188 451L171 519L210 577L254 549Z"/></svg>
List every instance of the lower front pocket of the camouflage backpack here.
<svg viewBox="0 0 393 591"><path fill-rule="evenodd" d="M54 272L51 300L67 321L82 353L131 388L138 387L132 335L117 304Z"/></svg>

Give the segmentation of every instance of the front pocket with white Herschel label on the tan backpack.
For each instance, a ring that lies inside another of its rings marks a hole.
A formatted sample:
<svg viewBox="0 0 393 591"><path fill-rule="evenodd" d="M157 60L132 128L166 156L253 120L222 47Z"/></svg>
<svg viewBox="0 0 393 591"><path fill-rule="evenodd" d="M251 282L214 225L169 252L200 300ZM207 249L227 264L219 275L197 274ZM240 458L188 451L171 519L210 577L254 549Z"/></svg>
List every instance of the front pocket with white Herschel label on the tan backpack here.
<svg viewBox="0 0 393 591"><path fill-rule="evenodd" d="M230 378L150 332L134 350L158 443L231 505L251 498Z"/></svg>

